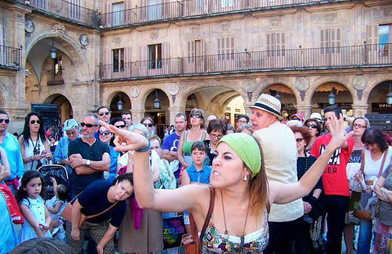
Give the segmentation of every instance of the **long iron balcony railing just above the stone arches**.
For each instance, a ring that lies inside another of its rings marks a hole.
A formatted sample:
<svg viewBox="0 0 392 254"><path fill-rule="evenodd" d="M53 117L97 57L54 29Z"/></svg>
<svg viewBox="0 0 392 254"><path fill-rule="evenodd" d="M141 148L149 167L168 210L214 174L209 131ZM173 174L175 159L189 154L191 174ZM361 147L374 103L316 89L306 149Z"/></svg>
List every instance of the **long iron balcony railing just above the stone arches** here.
<svg viewBox="0 0 392 254"><path fill-rule="evenodd" d="M99 65L101 81L392 66L392 44L254 51Z"/></svg>

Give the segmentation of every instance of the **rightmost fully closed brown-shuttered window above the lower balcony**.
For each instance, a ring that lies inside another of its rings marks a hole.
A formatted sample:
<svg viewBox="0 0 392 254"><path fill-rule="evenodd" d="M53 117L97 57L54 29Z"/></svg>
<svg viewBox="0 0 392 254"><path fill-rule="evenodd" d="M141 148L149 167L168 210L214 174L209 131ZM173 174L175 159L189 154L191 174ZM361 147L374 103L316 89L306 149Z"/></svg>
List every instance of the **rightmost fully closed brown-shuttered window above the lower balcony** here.
<svg viewBox="0 0 392 254"><path fill-rule="evenodd" d="M327 28L320 30L321 54L340 53L341 29Z"/></svg>

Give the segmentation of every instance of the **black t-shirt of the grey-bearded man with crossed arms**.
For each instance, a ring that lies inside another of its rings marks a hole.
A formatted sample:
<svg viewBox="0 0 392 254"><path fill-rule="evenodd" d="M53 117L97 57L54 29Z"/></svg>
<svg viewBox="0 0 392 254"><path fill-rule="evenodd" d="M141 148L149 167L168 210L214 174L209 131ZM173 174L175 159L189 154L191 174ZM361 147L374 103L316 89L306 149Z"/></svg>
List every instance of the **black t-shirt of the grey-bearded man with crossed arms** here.
<svg viewBox="0 0 392 254"><path fill-rule="evenodd" d="M68 156L79 153L83 159L91 161L101 161L102 154L105 152L110 154L109 146L98 139L90 146L83 142L81 138L77 138L70 141L68 146ZM96 172L89 175L77 175L75 170L72 169L72 195L79 194L92 181L101 179L103 179L103 172Z"/></svg>

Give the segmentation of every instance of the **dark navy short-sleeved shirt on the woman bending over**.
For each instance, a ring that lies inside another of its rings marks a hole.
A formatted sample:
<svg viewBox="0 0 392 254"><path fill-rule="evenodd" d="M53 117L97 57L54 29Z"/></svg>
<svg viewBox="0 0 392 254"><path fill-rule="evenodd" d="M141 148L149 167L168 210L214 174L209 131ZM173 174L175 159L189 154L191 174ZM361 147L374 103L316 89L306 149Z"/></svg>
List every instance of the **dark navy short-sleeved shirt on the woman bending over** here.
<svg viewBox="0 0 392 254"><path fill-rule="evenodd" d="M113 205L107 199L107 192L112 186L110 182L105 180L98 180L90 183L86 189L77 197L80 205L83 207L81 212L86 215L95 215ZM98 215L97 217L87 219L90 223L102 223L110 220L113 227L120 227L125 214L126 203L120 201L108 211Z"/></svg>

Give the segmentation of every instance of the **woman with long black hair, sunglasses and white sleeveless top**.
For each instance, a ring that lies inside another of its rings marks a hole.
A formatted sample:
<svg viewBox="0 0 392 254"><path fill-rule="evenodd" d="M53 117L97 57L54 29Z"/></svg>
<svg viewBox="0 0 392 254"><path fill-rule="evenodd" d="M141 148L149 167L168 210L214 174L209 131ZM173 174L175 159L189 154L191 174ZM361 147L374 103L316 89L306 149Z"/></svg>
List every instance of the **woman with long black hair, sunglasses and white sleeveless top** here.
<svg viewBox="0 0 392 254"><path fill-rule="evenodd" d="M25 170L38 169L52 158L42 117L37 112L27 114L25 127L18 140Z"/></svg>

